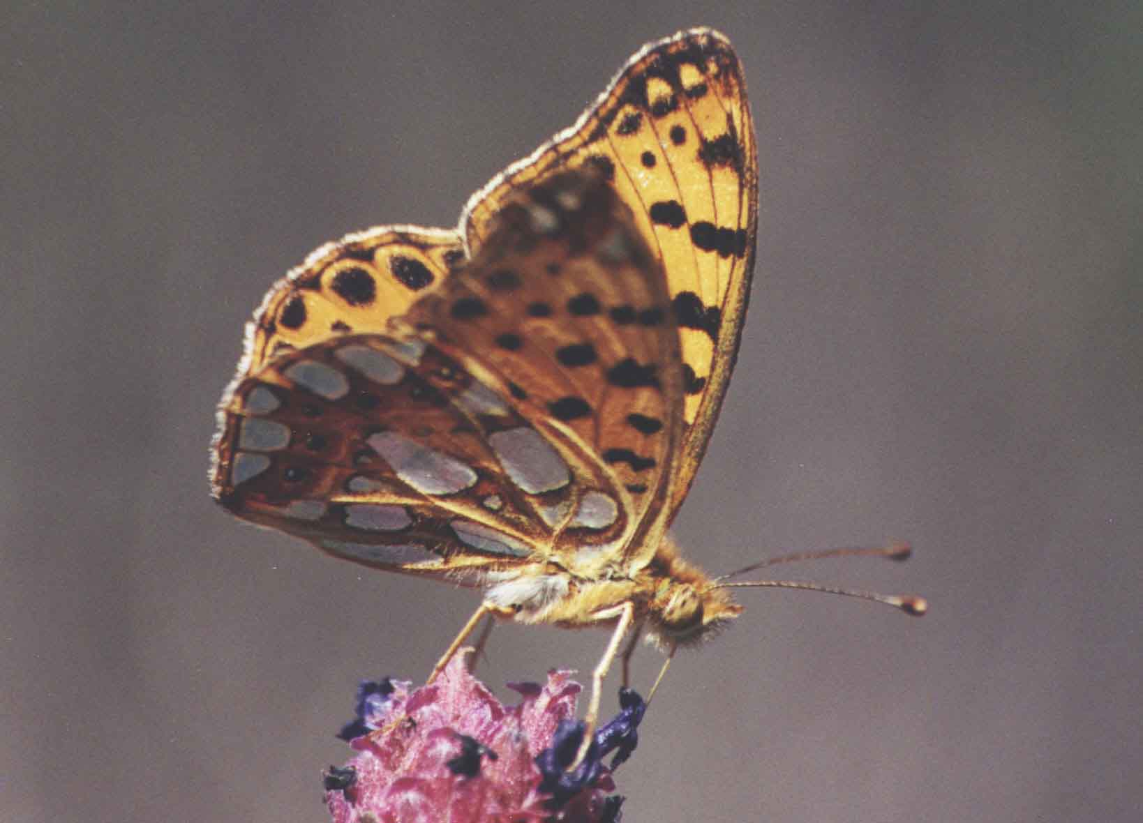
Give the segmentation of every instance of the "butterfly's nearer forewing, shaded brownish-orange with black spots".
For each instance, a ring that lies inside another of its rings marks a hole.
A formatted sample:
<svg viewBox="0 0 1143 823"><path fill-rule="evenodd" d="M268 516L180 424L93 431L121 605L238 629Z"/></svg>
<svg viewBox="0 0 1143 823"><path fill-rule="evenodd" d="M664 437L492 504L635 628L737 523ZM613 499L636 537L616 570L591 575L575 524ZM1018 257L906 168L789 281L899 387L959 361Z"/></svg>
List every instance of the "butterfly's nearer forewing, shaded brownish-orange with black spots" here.
<svg viewBox="0 0 1143 823"><path fill-rule="evenodd" d="M618 542L560 530L569 567L604 545L626 566L653 551L682 425L679 343L661 264L606 179L570 173L518 192L472 265L402 322L607 480L586 492L600 521L630 511Z"/></svg>

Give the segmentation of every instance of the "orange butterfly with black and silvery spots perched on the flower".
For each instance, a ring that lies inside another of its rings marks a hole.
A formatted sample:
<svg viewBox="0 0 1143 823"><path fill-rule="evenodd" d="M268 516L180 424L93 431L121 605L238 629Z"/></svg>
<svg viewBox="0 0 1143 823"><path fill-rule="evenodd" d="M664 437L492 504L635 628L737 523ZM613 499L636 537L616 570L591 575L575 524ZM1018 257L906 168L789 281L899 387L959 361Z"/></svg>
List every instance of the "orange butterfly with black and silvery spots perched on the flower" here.
<svg viewBox="0 0 1143 823"><path fill-rule="evenodd" d="M668 535L734 366L757 214L730 43L649 43L455 230L350 234L273 286L219 406L214 496L482 590L433 676L486 616L610 626L591 728L625 636L624 681L641 633L670 662L740 614L733 586L786 585L709 577Z"/></svg>

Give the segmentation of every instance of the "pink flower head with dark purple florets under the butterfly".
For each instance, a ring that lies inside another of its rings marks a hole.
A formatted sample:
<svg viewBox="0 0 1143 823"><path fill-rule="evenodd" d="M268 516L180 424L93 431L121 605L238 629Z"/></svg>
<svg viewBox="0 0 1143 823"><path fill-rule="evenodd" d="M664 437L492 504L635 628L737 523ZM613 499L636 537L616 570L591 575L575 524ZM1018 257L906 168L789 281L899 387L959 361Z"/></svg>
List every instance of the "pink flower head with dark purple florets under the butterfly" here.
<svg viewBox="0 0 1143 823"><path fill-rule="evenodd" d="M464 657L411 692L387 678L361 684L357 720L339 735L358 753L326 773L334 823L617 823L623 798L608 797L612 772L638 743L639 695L621 692L620 714L568 772L584 732L569 672L549 672L544 686L510 684L521 701L505 706ZM602 758L612 751L608 767Z"/></svg>

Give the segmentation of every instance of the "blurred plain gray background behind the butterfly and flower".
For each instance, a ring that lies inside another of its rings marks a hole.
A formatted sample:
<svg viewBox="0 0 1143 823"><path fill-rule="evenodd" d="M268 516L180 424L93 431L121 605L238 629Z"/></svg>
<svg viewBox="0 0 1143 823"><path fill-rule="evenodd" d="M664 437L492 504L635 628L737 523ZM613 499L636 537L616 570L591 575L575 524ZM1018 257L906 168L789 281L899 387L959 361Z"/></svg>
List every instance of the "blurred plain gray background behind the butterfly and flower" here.
<svg viewBox="0 0 1143 823"><path fill-rule="evenodd" d="M327 820L358 679L422 681L477 597L210 502L242 323L326 240L451 225L695 24L746 66L761 211L677 535L712 573L905 538L789 572L933 610L743 592L626 818L1138 820L1143 13L842 0L5 3L0 817ZM480 674L604 640L503 629Z"/></svg>

